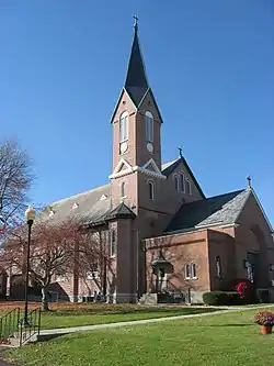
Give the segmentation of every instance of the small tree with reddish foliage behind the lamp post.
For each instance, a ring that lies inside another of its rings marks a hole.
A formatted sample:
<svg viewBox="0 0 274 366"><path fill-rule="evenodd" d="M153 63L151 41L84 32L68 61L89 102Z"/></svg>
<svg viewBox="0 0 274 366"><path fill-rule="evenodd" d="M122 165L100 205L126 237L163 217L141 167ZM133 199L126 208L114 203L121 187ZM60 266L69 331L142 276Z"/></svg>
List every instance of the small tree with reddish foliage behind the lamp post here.
<svg viewBox="0 0 274 366"><path fill-rule="evenodd" d="M38 222L33 228L30 251L30 278L42 288L42 309L48 309L47 287L55 276L69 273L71 254L80 231L70 221L56 224ZM25 274L26 230L20 228L3 245L1 265L12 273Z"/></svg>

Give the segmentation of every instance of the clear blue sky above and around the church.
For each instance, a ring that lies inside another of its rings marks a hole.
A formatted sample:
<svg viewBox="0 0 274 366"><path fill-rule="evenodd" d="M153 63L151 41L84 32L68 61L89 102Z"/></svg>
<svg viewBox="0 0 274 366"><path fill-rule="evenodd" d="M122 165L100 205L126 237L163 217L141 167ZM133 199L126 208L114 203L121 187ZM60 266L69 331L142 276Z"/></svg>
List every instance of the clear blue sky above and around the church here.
<svg viewBox="0 0 274 366"><path fill-rule="evenodd" d="M133 15L178 155L206 196L252 185L274 223L272 0L0 1L1 137L34 160L35 204L107 182Z"/></svg>

